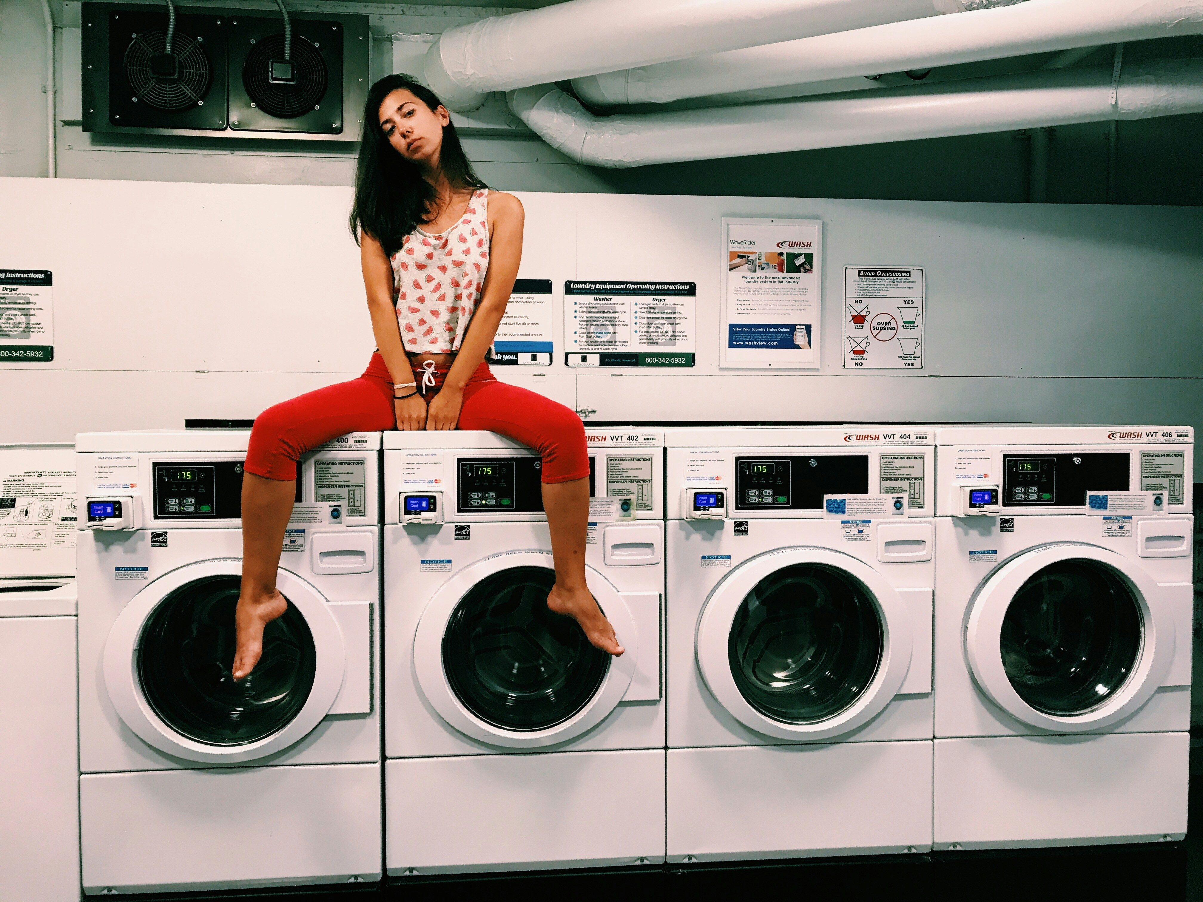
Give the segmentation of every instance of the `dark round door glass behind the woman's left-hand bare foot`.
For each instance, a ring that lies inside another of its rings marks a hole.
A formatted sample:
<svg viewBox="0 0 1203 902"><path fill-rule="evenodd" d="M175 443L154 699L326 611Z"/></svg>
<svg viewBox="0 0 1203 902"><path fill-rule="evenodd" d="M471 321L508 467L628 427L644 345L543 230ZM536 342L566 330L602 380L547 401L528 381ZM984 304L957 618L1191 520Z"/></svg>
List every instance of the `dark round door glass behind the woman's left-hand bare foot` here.
<svg viewBox="0 0 1203 902"><path fill-rule="evenodd" d="M146 621L135 654L142 693L165 725L209 746L259 742L288 726L314 684L309 624L289 604L263 630L263 654L235 682L239 578L211 576L168 593Z"/></svg>

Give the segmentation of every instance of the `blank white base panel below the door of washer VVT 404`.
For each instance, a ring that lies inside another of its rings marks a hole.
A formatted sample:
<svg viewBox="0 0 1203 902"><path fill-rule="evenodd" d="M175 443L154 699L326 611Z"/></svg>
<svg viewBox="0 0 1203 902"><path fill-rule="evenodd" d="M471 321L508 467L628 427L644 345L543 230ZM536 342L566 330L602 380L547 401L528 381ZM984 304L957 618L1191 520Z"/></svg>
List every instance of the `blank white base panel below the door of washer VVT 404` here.
<svg viewBox="0 0 1203 902"><path fill-rule="evenodd" d="M668 753L668 861L928 851L931 741Z"/></svg>

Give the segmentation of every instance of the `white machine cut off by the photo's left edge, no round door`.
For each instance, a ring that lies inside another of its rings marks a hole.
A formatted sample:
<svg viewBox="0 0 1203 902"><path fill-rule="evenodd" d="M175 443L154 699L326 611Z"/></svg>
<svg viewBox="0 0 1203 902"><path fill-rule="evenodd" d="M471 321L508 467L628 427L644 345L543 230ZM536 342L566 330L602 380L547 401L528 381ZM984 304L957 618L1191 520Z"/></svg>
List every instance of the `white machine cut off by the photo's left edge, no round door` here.
<svg viewBox="0 0 1203 902"><path fill-rule="evenodd" d="M79 898L76 469L0 445L0 898Z"/></svg>

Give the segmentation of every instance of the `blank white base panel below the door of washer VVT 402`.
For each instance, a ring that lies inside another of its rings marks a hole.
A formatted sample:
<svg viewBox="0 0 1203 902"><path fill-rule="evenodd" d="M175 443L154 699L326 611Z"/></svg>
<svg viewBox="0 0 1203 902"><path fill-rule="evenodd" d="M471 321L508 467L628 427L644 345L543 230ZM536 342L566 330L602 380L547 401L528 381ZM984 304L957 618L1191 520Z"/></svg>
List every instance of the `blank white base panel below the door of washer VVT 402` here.
<svg viewBox="0 0 1203 902"><path fill-rule="evenodd" d="M385 762L390 877L664 861L664 749Z"/></svg>

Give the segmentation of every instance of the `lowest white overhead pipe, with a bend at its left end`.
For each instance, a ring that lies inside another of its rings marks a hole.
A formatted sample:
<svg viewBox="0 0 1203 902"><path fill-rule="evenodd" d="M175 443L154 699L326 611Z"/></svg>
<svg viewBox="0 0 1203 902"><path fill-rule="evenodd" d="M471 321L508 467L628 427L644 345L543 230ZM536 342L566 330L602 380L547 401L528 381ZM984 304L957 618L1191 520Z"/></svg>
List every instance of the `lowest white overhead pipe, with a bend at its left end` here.
<svg viewBox="0 0 1203 902"><path fill-rule="evenodd" d="M1094 67L604 118L547 84L508 99L522 121L570 159L621 168L1203 112L1203 60L1125 69L1115 106L1112 70Z"/></svg>

